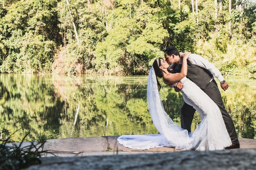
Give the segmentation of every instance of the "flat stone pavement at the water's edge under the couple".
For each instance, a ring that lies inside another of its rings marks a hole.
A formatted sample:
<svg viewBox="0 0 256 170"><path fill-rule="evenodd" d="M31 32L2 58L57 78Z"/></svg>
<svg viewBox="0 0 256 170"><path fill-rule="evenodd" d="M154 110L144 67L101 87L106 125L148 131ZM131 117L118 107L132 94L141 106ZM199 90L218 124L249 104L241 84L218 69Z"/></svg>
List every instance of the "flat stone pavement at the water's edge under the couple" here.
<svg viewBox="0 0 256 170"><path fill-rule="evenodd" d="M104 137L76 137L63 139L49 139L40 150L48 150L46 157L59 156L100 156L115 154L152 154L161 152L177 152L171 147L151 148L149 150L139 150L126 148L117 142L119 136ZM239 138L240 148L256 148L255 139ZM35 144L36 142L34 142ZM30 142L24 142L22 146L29 145ZM10 143L8 145L19 145L19 143Z"/></svg>

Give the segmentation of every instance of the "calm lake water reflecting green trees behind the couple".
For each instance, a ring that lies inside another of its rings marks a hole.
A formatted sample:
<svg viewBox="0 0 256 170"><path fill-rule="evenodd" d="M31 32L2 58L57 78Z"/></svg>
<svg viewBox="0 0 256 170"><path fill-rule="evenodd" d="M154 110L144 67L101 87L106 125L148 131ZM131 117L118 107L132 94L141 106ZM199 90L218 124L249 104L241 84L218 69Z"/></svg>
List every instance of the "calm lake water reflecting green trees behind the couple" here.
<svg viewBox="0 0 256 170"><path fill-rule="evenodd" d="M225 77L222 99L239 137L256 139L256 77ZM181 93L163 82L160 95L180 125ZM0 75L0 130L12 141L158 133L148 112L147 76ZM219 85L219 83L218 83ZM195 114L192 130L200 123Z"/></svg>

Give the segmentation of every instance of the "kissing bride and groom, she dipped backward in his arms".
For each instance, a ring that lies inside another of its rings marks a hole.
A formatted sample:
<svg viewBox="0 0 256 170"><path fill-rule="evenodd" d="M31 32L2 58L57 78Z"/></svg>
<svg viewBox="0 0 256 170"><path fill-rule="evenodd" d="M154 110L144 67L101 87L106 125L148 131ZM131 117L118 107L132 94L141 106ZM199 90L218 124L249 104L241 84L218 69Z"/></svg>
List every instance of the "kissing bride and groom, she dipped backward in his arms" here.
<svg viewBox="0 0 256 170"><path fill-rule="evenodd" d="M222 150L240 148L232 118L226 111L214 76L225 91L228 84L220 71L205 58L182 53L174 46L166 48L163 58L155 59L148 76L148 110L160 134L122 135L117 141L128 148L149 149L174 147L179 150ZM169 64L171 66L169 67ZM159 94L158 78L181 92L181 126L175 124L164 111ZM191 132L195 111L201 123Z"/></svg>

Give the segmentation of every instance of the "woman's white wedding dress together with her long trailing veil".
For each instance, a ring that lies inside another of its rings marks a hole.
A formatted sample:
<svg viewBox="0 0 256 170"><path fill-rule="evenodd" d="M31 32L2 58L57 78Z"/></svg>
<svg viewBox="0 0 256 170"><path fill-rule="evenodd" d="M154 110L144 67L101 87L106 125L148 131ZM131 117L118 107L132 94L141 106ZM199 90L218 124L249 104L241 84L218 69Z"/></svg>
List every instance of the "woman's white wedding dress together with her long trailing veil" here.
<svg viewBox="0 0 256 170"><path fill-rule="evenodd" d="M152 67L148 76L147 101L150 116L160 134L122 135L117 141L134 149L167 146L180 150L222 150L230 146L231 139L218 106L187 77L181 81L184 87L180 92L184 101L193 106L202 119L194 132L188 133L186 129L182 129L164 111Z"/></svg>

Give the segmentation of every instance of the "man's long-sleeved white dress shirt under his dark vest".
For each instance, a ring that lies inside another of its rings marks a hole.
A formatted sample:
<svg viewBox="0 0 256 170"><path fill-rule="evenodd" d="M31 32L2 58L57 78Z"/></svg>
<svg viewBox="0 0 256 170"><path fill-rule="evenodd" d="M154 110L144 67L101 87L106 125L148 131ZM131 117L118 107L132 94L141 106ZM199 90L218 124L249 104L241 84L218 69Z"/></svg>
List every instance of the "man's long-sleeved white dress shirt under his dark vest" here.
<svg viewBox="0 0 256 170"><path fill-rule="evenodd" d="M192 64L209 70L213 75L210 82L214 79L214 76L218 78L220 82L224 80L220 71L212 63L210 63L207 59L203 58L202 56L199 56L198 54L190 54L187 59ZM179 64L182 64L182 59L179 59Z"/></svg>

